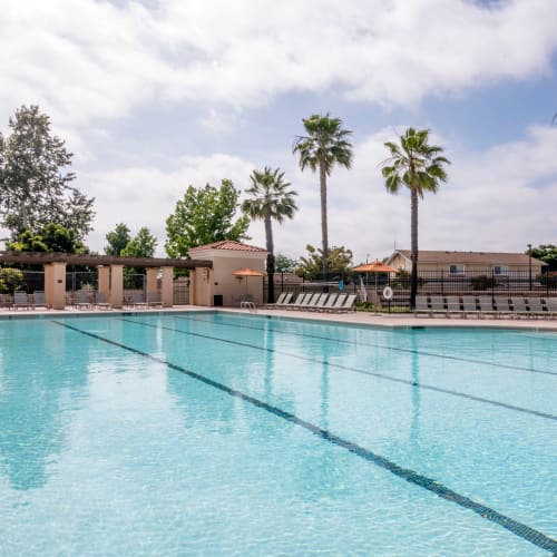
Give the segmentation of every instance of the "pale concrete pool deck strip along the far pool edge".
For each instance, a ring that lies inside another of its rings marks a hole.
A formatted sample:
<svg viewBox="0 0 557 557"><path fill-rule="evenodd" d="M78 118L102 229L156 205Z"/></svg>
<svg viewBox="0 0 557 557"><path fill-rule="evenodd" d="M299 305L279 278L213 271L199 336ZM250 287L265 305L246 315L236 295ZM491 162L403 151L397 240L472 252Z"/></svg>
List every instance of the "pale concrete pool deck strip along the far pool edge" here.
<svg viewBox="0 0 557 557"><path fill-rule="evenodd" d="M325 313L316 311L301 311L301 310L265 310L257 309L254 311L248 311L238 307L204 307L199 305L176 305L169 309L155 307L150 310L146 309L121 309L121 310L76 310L74 307L67 307L66 310L7 310L0 309L0 320L6 319L29 319L29 317L55 317L55 316L79 316L79 315L117 315L121 313L126 314L141 314L141 313L176 313L176 312L231 312L238 314L255 314L255 315L271 315L275 317L287 317L287 319L309 319L315 321L328 321L358 325L372 325L372 326L384 326L384 328L416 328L416 326L427 326L427 328L438 328L438 326L450 326L450 328L495 328L495 329L527 329L527 330L543 330L543 331L556 331L557 332L557 319L531 319L531 317L477 317L470 316L467 319L462 317L448 317L444 315L436 316L414 316L411 314L389 314L389 313L372 313L372 312L348 312L348 313Z"/></svg>

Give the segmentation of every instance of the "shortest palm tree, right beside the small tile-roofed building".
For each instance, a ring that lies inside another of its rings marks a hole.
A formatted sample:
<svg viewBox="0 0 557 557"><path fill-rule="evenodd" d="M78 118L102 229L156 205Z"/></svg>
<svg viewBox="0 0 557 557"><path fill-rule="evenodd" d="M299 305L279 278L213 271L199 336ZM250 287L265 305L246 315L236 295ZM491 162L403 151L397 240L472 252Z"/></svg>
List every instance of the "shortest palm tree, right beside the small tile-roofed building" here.
<svg viewBox="0 0 557 557"><path fill-rule="evenodd" d="M294 202L296 192L289 189L290 182L283 182L284 173L280 168L271 170L265 166L263 172L253 170L250 179L252 185L245 190L251 196L242 203L242 211L252 219L261 219L265 223L265 237L267 244L267 276L270 303L275 301L275 255L273 243L272 221L282 224L285 218L292 218L297 211Z"/></svg>

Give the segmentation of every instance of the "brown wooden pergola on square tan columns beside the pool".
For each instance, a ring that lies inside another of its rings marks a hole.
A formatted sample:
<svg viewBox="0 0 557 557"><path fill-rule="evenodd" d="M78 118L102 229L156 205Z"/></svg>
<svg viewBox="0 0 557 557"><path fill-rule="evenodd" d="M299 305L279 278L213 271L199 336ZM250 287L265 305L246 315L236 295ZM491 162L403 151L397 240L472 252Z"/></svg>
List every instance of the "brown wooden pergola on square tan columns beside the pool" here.
<svg viewBox="0 0 557 557"><path fill-rule="evenodd" d="M174 268L212 268L207 260L172 260L165 257L119 257L113 255L67 254L43 252L0 252L0 263L43 265L45 296L55 310L66 306L66 265L87 265L98 268L98 290L113 307L124 302L124 267L147 270L147 292L157 292L157 274L162 272L160 302L164 307L173 305Z"/></svg>

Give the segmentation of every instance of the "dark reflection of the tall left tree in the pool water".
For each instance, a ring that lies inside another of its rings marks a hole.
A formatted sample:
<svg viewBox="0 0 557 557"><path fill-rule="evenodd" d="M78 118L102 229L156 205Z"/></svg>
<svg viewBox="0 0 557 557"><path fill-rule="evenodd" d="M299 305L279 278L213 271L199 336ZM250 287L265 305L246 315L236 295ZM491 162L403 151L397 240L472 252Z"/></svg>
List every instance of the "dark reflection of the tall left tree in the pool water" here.
<svg viewBox="0 0 557 557"><path fill-rule="evenodd" d="M0 473L14 489L40 488L63 450L71 413L65 405L87 382L86 354L66 358L66 336L51 323L2 324L0 343Z"/></svg>

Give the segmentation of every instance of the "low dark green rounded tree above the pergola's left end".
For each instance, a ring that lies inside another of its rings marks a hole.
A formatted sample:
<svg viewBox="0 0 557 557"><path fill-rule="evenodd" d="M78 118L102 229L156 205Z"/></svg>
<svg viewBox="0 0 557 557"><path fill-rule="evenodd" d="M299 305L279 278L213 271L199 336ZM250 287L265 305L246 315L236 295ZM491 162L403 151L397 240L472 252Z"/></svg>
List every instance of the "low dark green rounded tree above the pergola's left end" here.
<svg viewBox="0 0 557 557"><path fill-rule="evenodd" d="M27 229L18 234L7 248L13 252L88 253L76 231L49 223L37 234Z"/></svg>

